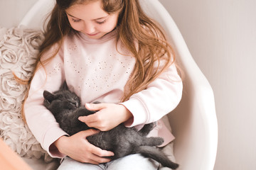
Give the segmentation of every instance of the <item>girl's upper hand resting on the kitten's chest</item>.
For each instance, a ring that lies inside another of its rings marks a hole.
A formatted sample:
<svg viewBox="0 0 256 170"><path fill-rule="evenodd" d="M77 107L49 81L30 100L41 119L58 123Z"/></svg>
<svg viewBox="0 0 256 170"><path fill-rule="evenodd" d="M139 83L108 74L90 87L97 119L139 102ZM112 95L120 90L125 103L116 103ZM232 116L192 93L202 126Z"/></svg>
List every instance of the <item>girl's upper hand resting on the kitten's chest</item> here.
<svg viewBox="0 0 256 170"><path fill-rule="evenodd" d="M122 105L113 103L85 104L90 111L97 111L92 115L80 116L78 119L90 128L101 131L111 130L120 123L132 118L132 113Z"/></svg>

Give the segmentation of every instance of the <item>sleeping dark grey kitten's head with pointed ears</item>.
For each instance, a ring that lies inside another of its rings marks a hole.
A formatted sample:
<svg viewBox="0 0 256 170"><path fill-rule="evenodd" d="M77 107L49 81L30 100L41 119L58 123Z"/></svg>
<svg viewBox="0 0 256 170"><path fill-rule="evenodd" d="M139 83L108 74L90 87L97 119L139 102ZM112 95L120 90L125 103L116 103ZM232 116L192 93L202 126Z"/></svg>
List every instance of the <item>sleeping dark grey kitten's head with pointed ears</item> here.
<svg viewBox="0 0 256 170"><path fill-rule="evenodd" d="M52 113L60 113L63 110L75 110L80 106L79 97L68 90L66 82L64 82L63 87L50 93L49 91L43 91L43 105L48 108Z"/></svg>

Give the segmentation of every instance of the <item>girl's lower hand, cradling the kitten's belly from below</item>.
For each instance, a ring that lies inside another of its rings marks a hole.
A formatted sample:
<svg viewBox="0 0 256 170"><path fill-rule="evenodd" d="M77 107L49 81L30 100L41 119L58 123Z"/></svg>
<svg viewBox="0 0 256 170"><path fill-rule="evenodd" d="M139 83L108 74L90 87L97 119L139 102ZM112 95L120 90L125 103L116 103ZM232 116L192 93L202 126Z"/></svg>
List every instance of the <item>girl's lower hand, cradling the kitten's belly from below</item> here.
<svg viewBox="0 0 256 170"><path fill-rule="evenodd" d="M86 137L97 132L97 130L85 130L70 137L62 136L54 144L62 154L68 155L78 162L90 164L110 162L110 159L104 157L114 156L113 152L95 147L86 140Z"/></svg>

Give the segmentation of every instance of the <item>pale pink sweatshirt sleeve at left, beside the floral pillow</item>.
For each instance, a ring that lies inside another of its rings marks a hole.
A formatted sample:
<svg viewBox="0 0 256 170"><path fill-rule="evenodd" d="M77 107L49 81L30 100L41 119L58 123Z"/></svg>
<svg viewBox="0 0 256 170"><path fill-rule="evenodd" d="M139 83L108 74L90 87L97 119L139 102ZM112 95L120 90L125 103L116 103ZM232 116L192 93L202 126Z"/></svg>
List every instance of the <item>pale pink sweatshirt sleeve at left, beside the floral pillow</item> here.
<svg viewBox="0 0 256 170"><path fill-rule="evenodd" d="M43 58L54 54L55 47L45 53ZM43 106L43 91L50 92L60 89L64 81L63 59L57 54L50 62L39 67L31 81L28 91L28 98L24 103L24 113L28 128L31 130L36 140L41 143L51 157L64 157L58 149L50 145L59 137L67 135L58 125L54 116ZM50 151L50 148L53 148Z"/></svg>

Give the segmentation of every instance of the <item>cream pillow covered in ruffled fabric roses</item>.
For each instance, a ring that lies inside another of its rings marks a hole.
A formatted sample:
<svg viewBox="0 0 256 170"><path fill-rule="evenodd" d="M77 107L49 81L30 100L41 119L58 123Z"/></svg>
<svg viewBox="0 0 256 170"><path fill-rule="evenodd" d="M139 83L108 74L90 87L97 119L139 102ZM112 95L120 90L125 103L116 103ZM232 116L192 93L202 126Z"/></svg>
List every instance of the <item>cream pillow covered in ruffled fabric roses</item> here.
<svg viewBox="0 0 256 170"><path fill-rule="evenodd" d="M21 118L28 86L18 84L13 75L31 77L42 40L40 30L0 27L0 137L21 157L44 157L49 162L50 156Z"/></svg>

